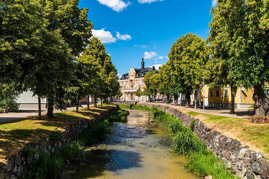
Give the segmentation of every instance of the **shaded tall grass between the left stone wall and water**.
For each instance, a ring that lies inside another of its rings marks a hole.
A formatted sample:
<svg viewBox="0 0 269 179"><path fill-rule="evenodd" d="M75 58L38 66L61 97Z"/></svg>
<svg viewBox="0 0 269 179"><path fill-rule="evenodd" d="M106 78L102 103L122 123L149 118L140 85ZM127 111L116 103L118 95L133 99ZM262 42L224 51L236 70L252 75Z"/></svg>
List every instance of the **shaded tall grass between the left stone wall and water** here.
<svg viewBox="0 0 269 179"><path fill-rule="evenodd" d="M119 109L103 121L95 123L89 129L80 133L74 141L62 147L59 152L54 152L53 155L44 152L40 153L40 151L30 147L25 149L29 165L23 171L23 179L56 178L65 165L68 165L70 161L82 155L82 147L85 144L91 145L104 140L107 134L107 121L111 119L126 119L128 115L129 111ZM55 131L53 134L55 138L60 135L61 133L59 131ZM39 155L36 155L38 153ZM39 156L39 160L37 156Z"/></svg>

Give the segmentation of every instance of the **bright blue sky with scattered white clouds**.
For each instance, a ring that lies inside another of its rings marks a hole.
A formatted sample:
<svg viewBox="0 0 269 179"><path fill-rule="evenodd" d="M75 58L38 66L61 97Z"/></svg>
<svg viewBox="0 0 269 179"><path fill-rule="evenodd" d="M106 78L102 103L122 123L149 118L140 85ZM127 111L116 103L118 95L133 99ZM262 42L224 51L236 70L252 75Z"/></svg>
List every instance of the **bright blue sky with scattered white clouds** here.
<svg viewBox="0 0 269 179"><path fill-rule="evenodd" d="M215 0L81 0L88 7L93 35L106 49L119 76L130 68L158 68L168 60L170 47L187 32L208 36L210 8ZM158 65L160 64L160 65Z"/></svg>

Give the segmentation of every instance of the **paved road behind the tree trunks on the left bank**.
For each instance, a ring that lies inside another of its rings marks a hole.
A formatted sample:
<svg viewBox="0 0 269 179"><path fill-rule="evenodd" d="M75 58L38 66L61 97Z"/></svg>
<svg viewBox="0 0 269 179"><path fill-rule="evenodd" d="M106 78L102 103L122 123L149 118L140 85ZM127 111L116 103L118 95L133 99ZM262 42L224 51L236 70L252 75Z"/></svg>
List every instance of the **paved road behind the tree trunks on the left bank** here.
<svg viewBox="0 0 269 179"><path fill-rule="evenodd" d="M90 103L90 106L93 106L94 104ZM82 104L82 107L87 107L87 104ZM75 106L70 106L66 107L68 111L75 110ZM60 110L54 109L53 112L61 112ZM41 115L47 114L47 109L42 108L41 109ZM38 109L33 109L33 108L20 108L18 112L9 112L9 113L0 113L0 123L1 122L8 122L8 121L13 121L17 119L22 119L22 118L28 118L32 116L37 116L38 115Z"/></svg>

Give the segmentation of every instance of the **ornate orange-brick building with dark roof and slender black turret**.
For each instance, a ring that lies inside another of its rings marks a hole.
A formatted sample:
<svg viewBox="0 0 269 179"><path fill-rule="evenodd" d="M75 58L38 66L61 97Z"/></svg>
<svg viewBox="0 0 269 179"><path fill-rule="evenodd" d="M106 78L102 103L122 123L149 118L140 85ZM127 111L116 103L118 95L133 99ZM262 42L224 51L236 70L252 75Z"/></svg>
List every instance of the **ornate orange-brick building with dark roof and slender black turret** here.
<svg viewBox="0 0 269 179"><path fill-rule="evenodd" d="M121 99L140 99L146 101L146 96L135 96L136 90L140 88L141 91L144 91L145 84L143 79L145 74L149 71L155 71L158 73L158 70L156 70L154 66L152 68L145 68L144 65L144 58L142 58L141 68L131 68L128 73L122 75L120 78L120 87L123 93ZM158 93L157 98L161 97L162 96Z"/></svg>

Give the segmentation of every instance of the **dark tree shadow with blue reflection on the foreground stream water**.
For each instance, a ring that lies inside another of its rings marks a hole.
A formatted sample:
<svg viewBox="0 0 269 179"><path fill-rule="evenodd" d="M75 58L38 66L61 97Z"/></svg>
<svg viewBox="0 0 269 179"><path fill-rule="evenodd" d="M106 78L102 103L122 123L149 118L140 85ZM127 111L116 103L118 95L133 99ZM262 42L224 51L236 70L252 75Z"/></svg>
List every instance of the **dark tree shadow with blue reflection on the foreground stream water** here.
<svg viewBox="0 0 269 179"><path fill-rule="evenodd" d="M86 152L82 161L78 161L70 173L77 173L75 178L94 178L105 171L114 172L115 175L122 169L141 167L141 155L133 151L115 149L96 149ZM98 163L97 163L98 161ZM65 178L65 173L61 178Z"/></svg>

